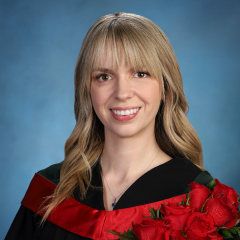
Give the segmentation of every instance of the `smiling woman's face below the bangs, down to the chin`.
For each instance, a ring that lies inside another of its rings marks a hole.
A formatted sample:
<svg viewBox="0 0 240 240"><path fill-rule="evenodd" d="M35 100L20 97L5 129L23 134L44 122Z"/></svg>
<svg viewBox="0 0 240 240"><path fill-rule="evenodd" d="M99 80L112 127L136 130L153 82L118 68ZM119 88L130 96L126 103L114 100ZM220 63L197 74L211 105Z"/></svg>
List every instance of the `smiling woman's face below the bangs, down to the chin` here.
<svg viewBox="0 0 240 240"><path fill-rule="evenodd" d="M155 117L163 99L161 84L147 69L136 72L126 67L124 60L114 69L108 56L111 54L91 75L93 108L105 134L106 131L118 137L133 137L143 131L154 134Z"/></svg>

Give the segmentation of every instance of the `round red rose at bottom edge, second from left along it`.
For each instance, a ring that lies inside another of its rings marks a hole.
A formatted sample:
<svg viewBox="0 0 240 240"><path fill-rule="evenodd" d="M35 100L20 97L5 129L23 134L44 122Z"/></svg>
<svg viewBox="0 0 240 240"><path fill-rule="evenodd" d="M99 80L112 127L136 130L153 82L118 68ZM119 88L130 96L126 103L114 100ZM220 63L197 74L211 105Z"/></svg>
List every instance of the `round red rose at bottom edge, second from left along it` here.
<svg viewBox="0 0 240 240"><path fill-rule="evenodd" d="M195 212L187 220L185 234L188 239L211 239L217 230L211 216L206 213Z"/></svg>

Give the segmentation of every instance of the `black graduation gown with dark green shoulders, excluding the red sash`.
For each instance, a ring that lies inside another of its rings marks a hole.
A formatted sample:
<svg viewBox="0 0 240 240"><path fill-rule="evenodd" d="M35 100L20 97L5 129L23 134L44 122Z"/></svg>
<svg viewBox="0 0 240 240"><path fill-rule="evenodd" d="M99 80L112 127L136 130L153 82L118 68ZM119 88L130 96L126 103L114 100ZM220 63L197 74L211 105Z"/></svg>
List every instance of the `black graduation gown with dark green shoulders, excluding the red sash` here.
<svg viewBox="0 0 240 240"><path fill-rule="evenodd" d="M58 184L60 168L61 163L54 164L39 171L38 174L51 183ZM198 182L207 185L212 179L212 176L207 171L200 170L191 161L174 157L170 161L149 170L137 179L118 200L114 210L146 205L179 196L190 190L189 183ZM99 163L93 167L91 183L94 186L102 187ZM74 192L76 201L93 209L104 210L103 192L101 190L89 188L84 200L80 200L79 196L79 189L76 189ZM68 231L50 221L46 221L43 227L40 227L40 221L41 217L39 215L21 205L5 240L92 239ZM234 239L240 238L234 235Z"/></svg>

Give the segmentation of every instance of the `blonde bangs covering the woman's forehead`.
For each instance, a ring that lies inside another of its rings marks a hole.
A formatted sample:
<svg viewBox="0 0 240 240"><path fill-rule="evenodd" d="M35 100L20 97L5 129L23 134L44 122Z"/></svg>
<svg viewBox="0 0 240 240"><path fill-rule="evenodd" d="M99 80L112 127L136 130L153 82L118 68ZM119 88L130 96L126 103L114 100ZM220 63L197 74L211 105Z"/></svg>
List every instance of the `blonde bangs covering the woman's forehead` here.
<svg viewBox="0 0 240 240"><path fill-rule="evenodd" d="M148 71L153 77L162 81L161 66L154 44L147 35L137 31L132 26L111 24L102 29L102 34L92 42L89 48L88 61L93 69L102 68L106 59L110 58L112 69L118 69L124 62L126 67L135 71Z"/></svg>

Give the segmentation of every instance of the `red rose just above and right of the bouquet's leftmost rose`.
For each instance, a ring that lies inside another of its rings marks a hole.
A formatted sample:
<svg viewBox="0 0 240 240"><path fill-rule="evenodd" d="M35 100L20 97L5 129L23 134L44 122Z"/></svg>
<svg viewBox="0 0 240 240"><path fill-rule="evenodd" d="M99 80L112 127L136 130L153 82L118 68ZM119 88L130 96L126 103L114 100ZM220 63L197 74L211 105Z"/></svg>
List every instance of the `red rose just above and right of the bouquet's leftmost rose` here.
<svg viewBox="0 0 240 240"><path fill-rule="evenodd" d="M184 229L187 219L194 213L193 208L178 204L162 205L160 211L164 214L164 220L171 222L171 230Z"/></svg>

